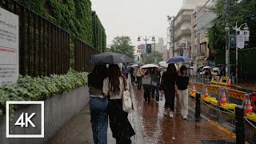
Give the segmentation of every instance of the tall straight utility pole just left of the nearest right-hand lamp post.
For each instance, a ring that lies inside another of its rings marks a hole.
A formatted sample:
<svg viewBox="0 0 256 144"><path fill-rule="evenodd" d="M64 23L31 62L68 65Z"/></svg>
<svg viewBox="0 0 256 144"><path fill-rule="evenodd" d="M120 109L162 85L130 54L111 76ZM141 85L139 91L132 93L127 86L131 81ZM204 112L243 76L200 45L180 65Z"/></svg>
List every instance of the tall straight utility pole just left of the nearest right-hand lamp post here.
<svg viewBox="0 0 256 144"><path fill-rule="evenodd" d="M226 0L226 23L230 23L230 0ZM226 31L226 76L230 77L230 30Z"/></svg>

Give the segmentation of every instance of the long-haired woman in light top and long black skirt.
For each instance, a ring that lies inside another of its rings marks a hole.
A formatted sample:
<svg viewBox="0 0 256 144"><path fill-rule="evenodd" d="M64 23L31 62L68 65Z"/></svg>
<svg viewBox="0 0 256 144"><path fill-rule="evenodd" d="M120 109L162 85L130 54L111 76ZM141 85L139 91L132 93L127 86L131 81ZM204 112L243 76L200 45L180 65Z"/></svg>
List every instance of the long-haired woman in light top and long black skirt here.
<svg viewBox="0 0 256 144"><path fill-rule="evenodd" d="M128 113L122 110L122 94L126 90L126 82L122 78L118 65L111 64L109 77L103 81L103 94L109 96L110 129L117 144L130 144L130 137L135 132L128 120Z"/></svg>

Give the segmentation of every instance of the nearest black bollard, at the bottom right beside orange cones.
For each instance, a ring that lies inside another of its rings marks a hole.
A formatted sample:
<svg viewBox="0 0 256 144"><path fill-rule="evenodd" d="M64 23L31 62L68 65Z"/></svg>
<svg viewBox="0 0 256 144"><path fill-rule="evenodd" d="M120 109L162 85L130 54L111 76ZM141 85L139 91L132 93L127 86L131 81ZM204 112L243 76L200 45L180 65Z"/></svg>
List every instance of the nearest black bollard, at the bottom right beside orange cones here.
<svg viewBox="0 0 256 144"><path fill-rule="evenodd" d="M243 107L236 106L235 107L235 130L236 130L236 142L239 144L245 143L245 120L243 118Z"/></svg>

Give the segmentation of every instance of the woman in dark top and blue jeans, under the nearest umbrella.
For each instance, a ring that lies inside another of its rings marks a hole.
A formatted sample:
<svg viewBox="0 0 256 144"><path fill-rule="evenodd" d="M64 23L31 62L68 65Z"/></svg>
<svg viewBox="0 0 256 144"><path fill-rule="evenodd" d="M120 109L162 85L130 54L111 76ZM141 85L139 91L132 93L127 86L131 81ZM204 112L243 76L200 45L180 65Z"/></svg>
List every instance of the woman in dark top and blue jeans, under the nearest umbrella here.
<svg viewBox="0 0 256 144"><path fill-rule="evenodd" d="M96 65L88 74L90 93L90 122L94 144L106 144L108 126L108 100L102 95L103 80L107 77L106 65Z"/></svg>

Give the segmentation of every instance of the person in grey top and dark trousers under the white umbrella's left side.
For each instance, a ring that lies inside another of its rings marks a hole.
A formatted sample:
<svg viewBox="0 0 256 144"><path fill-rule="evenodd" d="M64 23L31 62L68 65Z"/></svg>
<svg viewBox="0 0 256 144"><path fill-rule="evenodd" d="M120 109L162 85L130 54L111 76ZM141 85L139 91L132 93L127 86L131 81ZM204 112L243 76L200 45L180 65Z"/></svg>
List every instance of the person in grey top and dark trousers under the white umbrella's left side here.
<svg viewBox="0 0 256 144"><path fill-rule="evenodd" d="M145 102L150 103L151 77L150 77L150 71L147 69L145 69L145 73L142 77L142 85L144 90Z"/></svg>

